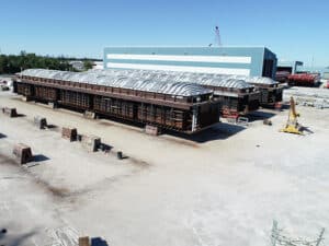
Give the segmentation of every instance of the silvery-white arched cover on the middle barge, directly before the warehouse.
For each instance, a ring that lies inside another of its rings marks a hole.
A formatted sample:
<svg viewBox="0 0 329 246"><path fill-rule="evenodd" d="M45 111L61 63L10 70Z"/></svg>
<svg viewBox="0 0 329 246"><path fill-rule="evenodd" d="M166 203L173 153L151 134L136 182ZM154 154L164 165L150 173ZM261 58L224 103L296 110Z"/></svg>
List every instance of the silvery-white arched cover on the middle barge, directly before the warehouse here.
<svg viewBox="0 0 329 246"><path fill-rule="evenodd" d="M250 89L245 79L222 74L193 73L193 72L171 72L157 70L129 70L129 69L106 69L100 71L103 74L127 75L132 78L145 78L155 81L177 81L184 83L196 83L217 87Z"/></svg>

